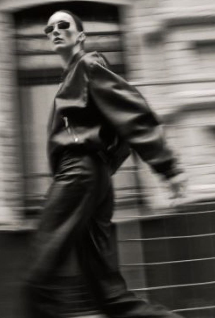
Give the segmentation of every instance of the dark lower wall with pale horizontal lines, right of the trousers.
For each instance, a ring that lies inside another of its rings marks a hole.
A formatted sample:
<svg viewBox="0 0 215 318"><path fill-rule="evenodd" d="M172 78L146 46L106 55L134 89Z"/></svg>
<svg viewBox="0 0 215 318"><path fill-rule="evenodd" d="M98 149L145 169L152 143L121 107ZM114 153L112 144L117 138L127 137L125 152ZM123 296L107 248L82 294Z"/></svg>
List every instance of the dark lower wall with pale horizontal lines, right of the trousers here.
<svg viewBox="0 0 215 318"><path fill-rule="evenodd" d="M135 221L121 223L118 227L119 250L124 251L121 270L130 288L137 294L144 291L151 301L163 303L186 317L196 317L197 312L197 317L212 317L214 215L211 202L187 206L181 213L165 218L143 218L139 220L139 238L134 234Z"/></svg>

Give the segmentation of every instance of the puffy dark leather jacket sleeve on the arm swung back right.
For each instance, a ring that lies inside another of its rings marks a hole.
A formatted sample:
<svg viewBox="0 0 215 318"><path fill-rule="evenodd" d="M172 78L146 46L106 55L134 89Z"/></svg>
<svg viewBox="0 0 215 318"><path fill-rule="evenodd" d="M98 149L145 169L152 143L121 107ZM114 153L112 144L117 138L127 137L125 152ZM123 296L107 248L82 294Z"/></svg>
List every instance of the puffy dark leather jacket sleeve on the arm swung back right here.
<svg viewBox="0 0 215 318"><path fill-rule="evenodd" d="M97 60L91 63L89 90L101 113L143 161L166 178L181 172L157 117L134 87Z"/></svg>

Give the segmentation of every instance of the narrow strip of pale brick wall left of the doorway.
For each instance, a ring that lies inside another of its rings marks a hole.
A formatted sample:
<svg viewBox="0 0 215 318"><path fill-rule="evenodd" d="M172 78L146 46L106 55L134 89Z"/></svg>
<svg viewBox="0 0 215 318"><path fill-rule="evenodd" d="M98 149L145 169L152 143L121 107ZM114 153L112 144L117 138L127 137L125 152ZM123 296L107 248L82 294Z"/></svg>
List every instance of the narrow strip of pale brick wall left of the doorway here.
<svg viewBox="0 0 215 318"><path fill-rule="evenodd" d="M0 13L0 223L21 217L22 164L13 21Z"/></svg>

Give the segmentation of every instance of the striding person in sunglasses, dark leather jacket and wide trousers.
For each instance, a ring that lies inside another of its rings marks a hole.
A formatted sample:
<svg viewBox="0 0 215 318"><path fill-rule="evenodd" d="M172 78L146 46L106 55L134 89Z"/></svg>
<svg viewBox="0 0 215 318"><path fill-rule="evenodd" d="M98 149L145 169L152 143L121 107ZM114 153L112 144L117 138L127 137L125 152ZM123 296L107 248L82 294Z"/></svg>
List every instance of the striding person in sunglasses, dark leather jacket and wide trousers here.
<svg viewBox="0 0 215 318"><path fill-rule="evenodd" d="M78 17L65 10L55 12L45 33L65 70L48 124L54 181L28 277L31 316L69 317L71 299L66 295L67 301L59 301L53 291L60 288L52 288L53 282L55 287L57 281L66 282L66 287L60 286L67 290L79 273L97 307L110 317L179 317L127 291L117 266L111 223L110 176L128 156L129 148L180 194L181 171L160 123L141 94L111 72L100 54L84 52L85 34Z"/></svg>

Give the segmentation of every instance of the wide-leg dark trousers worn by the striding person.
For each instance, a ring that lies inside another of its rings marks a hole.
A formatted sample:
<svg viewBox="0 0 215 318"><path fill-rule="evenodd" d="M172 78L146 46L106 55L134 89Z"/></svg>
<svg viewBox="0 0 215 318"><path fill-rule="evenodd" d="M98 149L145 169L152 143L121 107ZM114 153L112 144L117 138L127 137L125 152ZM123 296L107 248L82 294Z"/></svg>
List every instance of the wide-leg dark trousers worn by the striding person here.
<svg viewBox="0 0 215 318"><path fill-rule="evenodd" d="M107 164L97 156L64 154L32 247L32 266L25 283L28 318L71 317L65 308L69 294L66 302L59 299L55 282L64 277L62 281L68 284L77 273L96 306L109 317L179 318L127 290L118 270L112 214Z"/></svg>

